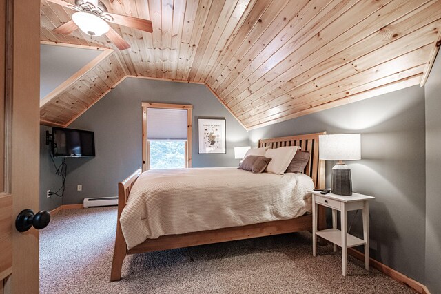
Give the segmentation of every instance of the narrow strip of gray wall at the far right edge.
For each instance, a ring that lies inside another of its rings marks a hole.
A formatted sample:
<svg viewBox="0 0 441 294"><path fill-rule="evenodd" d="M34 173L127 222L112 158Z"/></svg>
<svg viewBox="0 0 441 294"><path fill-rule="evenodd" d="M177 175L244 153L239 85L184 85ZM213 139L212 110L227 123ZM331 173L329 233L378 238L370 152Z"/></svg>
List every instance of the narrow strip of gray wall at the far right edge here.
<svg viewBox="0 0 441 294"><path fill-rule="evenodd" d="M441 54L425 90L426 97L426 285L441 293Z"/></svg>

